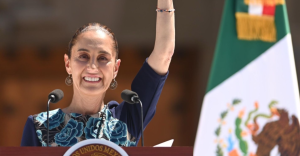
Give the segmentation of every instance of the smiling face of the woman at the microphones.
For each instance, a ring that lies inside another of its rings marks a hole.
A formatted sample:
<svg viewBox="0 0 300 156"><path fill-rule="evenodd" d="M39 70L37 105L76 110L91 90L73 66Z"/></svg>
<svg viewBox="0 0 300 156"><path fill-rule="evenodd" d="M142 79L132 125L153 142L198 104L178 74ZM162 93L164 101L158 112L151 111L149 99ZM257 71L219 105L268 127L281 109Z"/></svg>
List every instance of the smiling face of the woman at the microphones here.
<svg viewBox="0 0 300 156"><path fill-rule="evenodd" d="M65 54L65 66L72 74L74 92L99 95L106 92L117 76L121 60L111 36L101 30L80 34L71 49L71 58Z"/></svg>

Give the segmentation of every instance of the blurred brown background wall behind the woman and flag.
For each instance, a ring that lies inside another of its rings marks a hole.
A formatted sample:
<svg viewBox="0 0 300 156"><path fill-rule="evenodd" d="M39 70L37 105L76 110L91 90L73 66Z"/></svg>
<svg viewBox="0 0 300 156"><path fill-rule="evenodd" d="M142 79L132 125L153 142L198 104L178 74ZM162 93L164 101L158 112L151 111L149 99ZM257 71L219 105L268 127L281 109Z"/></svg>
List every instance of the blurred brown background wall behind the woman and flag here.
<svg viewBox="0 0 300 156"><path fill-rule="evenodd" d="M224 0L174 0L176 49L145 145L175 139L193 146ZM300 73L300 1L287 0L296 68ZM46 111L56 88L67 107L72 87L63 55L75 30L88 22L110 27L120 44L119 86L105 102L121 102L155 40L156 0L0 0L0 146L19 146L27 117ZM280 62L278 62L280 63Z"/></svg>

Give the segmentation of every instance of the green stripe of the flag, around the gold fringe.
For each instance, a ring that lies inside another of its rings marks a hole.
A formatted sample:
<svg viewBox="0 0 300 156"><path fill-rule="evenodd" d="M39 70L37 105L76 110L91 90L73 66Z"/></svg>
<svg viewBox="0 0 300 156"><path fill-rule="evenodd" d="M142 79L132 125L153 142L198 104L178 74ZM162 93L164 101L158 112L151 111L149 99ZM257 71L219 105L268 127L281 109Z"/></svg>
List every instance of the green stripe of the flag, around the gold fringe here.
<svg viewBox="0 0 300 156"><path fill-rule="evenodd" d="M236 0L227 0L225 3L206 92L209 92L237 71L241 70L276 43L238 40L235 6ZM277 5L275 15L278 41L290 33L286 6Z"/></svg>

